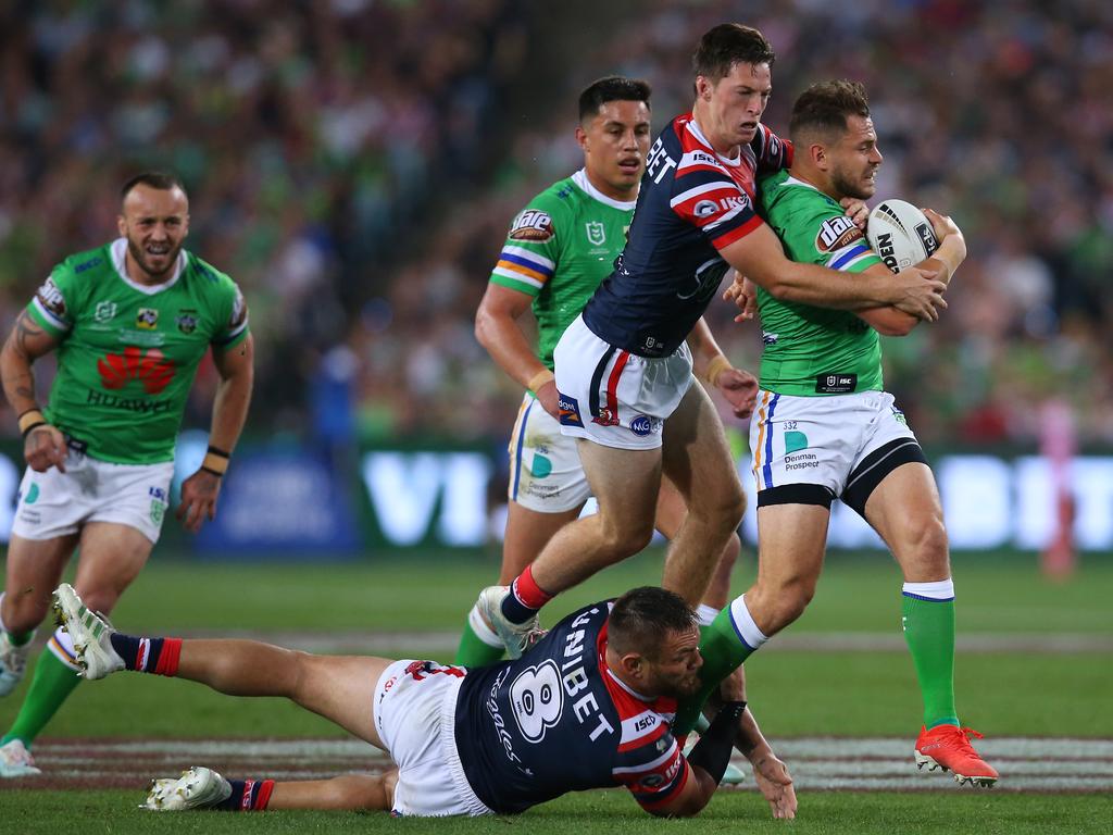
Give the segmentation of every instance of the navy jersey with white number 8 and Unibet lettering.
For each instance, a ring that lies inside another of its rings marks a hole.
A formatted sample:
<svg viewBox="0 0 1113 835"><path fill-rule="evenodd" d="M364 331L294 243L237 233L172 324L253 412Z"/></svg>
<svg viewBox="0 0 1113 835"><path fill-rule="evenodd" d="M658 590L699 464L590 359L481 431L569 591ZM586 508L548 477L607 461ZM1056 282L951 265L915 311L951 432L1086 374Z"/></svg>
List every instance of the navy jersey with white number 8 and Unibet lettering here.
<svg viewBox="0 0 1113 835"><path fill-rule="evenodd" d="M492 811L614 786L653 809L687 783L690 766L671 731L676 700L640 696L607 667L609 612L610 603L573 612L516 661L464 677L456 748Z"/></svg>

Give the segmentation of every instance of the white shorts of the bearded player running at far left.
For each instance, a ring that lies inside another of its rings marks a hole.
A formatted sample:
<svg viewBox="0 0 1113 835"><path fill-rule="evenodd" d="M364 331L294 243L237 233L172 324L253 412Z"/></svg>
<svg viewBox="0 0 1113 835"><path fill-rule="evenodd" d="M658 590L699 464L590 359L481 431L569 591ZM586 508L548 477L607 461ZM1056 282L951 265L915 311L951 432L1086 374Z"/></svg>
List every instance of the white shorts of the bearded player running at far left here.
<svg viewBox="0 0 1113 835"><path fill-rule="evenodd" d="M116 522L154 544L170 503L174 462L112 464L70 448L66 472L23 473L11 532L24 539L77 533L86 522Z"/></svg>

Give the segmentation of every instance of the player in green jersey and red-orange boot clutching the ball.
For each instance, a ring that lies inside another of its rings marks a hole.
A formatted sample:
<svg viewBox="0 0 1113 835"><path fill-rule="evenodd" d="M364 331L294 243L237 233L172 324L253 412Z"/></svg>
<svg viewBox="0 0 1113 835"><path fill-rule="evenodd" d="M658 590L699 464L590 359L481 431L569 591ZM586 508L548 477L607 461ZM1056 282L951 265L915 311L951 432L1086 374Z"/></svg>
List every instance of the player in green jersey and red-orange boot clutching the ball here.
<svg viewBox="0 0 1113 835"><path fill-rule="evenodd" d="M762 180L764 215L790 258L846 273L888 268L839 200L874 195L881 155L866 91L851 81L806 90L792 108L791 168ZM947 282L966 257L948 217L926 215L939 240L919 264ZM758 490L757 583L731 605L740 658L796 620L823 568L831 501L859 513L904 572L905 638L924 698L920 767L991 786L997 772L971 746L954 698L954 583L935 480L916 436L883 389L878 334L917 320L894 307L855 313L787 302L757 289L762 342L758 411L750 426Z"/></svg>

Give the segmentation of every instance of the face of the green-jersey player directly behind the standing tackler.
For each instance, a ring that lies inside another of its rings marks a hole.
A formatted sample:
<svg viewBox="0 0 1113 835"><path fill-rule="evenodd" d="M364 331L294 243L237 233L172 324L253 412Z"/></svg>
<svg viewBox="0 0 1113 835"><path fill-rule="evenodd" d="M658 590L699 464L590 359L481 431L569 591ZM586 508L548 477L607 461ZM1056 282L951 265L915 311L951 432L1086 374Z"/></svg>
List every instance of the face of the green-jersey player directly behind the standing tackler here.
<svg viewBox="0 0 1113 835"><path fill-rule="evenodd" d="M608 101L577 130L588 177L608 197L631 200L649 154L649 107L644 101Z"/></svg>

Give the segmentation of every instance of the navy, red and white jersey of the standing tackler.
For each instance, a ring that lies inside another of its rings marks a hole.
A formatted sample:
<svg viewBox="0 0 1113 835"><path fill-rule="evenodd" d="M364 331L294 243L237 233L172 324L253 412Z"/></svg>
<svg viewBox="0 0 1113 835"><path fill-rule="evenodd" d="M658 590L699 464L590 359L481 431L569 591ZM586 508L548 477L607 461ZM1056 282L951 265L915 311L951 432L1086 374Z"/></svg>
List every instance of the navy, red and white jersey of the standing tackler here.
<svg viewBox="0 0 1113 835"><path fill-rule="evenodd" d="M639 356L673 353L729 268L719 250L762 223L755 178L791 163L791 144L765 125L726 159L691 114L673 119L649 151L626 249L584 307L584 324Z"/></svg>

